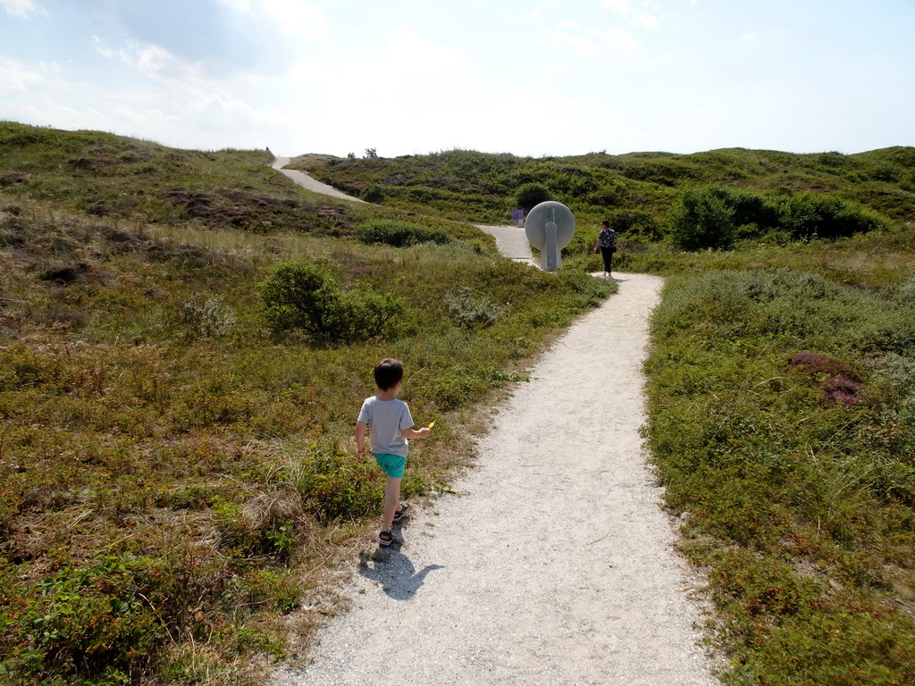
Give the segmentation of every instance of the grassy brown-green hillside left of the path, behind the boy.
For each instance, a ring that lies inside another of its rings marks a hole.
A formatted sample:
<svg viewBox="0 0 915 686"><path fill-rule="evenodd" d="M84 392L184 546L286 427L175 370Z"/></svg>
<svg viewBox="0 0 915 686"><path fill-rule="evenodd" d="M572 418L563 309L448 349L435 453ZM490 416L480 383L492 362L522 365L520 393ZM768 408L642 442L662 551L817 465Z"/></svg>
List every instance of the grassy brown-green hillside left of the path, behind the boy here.
<svg viewBox="0 0 915 686"><path fill-rule="evenodd" d="M375 361L436 419L405 495L447 489L472 408L608 295L269 161L0 123L0 681L260 682L252 656L335 611L327 575L380 513L351 439ZM284 264L322 275L318 307L398 326L284 329L260 286Z"/></svg>

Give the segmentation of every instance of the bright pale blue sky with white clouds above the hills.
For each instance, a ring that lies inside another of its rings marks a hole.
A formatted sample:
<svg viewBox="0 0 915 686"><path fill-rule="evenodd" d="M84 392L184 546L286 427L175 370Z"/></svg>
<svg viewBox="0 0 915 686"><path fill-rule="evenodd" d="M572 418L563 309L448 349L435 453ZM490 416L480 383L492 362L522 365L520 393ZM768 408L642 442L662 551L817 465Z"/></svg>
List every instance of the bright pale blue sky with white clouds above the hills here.
<svg viewBox="0 0 915 686"><path fill-rule="evenodd" d="M915 0L0 0L0 120L382 157L915 145Z"/></svg>

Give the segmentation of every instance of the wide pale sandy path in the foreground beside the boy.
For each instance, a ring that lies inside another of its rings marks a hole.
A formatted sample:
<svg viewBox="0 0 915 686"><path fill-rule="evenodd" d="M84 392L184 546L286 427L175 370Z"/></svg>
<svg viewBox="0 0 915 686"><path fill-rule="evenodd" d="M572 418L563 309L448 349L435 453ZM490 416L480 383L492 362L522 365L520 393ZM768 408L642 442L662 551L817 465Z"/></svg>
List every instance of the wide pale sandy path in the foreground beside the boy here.
<svg viewBox="0 0 915 686"><path fill-rule="evenodd" d="M716 683L640 449L661 280L619 281L494 416L460 497L414 508L403 547L361 565L353 608L276 686Z"/></svg>

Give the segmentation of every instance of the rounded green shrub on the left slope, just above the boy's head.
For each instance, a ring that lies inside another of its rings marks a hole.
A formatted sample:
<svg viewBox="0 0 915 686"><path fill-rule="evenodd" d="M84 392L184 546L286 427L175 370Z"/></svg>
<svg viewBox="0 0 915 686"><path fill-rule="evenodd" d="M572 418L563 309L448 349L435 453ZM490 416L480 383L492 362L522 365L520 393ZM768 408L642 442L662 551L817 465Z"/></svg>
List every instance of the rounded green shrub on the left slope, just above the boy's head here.
<svg viewBox="0 0 915 686"><path fill-rule="evenodd" d="M343 290L327 265L297 261L280 265L258 292L274 334L299 330L322 343L351 343L394 333L404 302L367 285Z"/></svg>

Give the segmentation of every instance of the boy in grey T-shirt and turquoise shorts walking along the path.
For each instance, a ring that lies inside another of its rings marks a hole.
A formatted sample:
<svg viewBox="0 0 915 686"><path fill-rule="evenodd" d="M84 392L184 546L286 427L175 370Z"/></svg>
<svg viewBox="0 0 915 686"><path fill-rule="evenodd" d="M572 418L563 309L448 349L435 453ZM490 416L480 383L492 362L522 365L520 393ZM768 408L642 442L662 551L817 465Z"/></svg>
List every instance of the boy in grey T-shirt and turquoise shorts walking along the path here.
<svg viewBox="0 0 915 686"><path fill-rule="evenodd" d="M375 385L379 393L362 402L359 419L356 421L356 454L365 456L365 428L370 427L371 452L378 466L387 475L384 483L384 511L382 532L378 542L391 545L394 538L391 525L404 519L410 503L400 502L400 482L404 477L407 440L425 438L432 429L414 430L413 417L406 402L397 400L397 393L404 380L404 363L399 359L385 358L375 365Z"/></svg>

